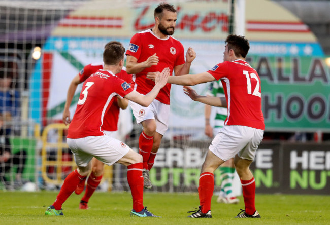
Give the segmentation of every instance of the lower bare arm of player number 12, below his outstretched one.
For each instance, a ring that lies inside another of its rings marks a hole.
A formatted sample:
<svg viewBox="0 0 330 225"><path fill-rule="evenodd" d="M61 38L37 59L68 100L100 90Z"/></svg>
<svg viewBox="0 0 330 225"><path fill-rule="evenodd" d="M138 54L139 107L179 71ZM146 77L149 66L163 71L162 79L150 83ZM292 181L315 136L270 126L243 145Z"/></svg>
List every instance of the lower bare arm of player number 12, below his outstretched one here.
<svg viewBox="0 0 330 225"><path fill-rule="evenodd" d="M183 91L188 95L192 100L199 101L204 104L216 106L216 107L227 107L227 102L225 97L209 97L202 96L196 93L191 87L183 86Z"/></svg>

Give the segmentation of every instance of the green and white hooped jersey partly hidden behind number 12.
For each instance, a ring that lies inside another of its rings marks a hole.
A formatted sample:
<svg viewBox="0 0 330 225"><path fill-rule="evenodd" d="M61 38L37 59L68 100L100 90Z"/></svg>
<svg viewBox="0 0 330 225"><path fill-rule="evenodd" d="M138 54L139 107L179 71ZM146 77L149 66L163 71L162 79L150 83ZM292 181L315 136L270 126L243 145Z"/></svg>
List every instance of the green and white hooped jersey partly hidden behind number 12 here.
<svg viewBox="0 0 330 225"><path fill-rule="evenodd" d="M210 86L209 90L207 92L208 96L213 97L224 97L224 91L222 87L221 81L213 81ZM217 130L214 133L218 133L218 130L221 129L224 125L224 121L227 118L227 108L221 108L221 107L214 107L216 110L215 112L215 118L214 118L214 130Z"/></svg>

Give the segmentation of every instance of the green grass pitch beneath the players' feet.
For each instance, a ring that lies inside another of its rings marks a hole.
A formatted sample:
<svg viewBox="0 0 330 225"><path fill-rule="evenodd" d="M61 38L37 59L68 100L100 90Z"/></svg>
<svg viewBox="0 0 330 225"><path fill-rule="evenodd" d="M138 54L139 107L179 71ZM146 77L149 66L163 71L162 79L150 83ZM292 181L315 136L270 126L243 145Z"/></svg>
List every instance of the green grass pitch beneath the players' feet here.
<svg viewBox="0 0 330 225"><path fill-rule="evenodd" d="M46 216L58 192L0 191L0 224L329 224L330 195L256 195L256 208L261 219L234 218L244 208L243 197L238 205L216 203L212 199L211 219L186 218L187 211L199 205L197 193L144 194L144 205L162 218L130 217L132 202L129 192L96 192L88 210L78 208L80 198L72 194L63 204L64 216Z"/></svg>

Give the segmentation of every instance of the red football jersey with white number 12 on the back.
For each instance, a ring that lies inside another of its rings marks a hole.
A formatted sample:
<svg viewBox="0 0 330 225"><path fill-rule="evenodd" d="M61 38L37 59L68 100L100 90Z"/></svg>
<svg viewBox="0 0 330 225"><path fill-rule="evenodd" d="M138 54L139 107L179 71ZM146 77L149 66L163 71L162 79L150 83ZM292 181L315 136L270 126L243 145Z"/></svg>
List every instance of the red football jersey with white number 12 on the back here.
<svg viewBox="0 0 330 225"><path fill-rule="evenodd" d="M240 125L265 129L261 111L260 78L255 69L243 60L223 62L208 71L221 79L227 100L225 125Z"/></svg>

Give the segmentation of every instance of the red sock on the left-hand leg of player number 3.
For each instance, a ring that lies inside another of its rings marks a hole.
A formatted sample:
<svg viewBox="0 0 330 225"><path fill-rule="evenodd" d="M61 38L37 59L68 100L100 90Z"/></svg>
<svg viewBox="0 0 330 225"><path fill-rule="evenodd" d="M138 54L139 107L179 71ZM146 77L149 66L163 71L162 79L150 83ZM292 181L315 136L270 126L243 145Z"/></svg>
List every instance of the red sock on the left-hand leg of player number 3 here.
<svg viewBox="0 0 330 225"><path fill-rule="evenodd" d="M56 210L62 208L62 204L69 198L69 196L75 191L80 180L84 179L86 176L82 176L77 170L72 171L67 178L65 178L64 183L59 191L53 206Z"/></svg>

